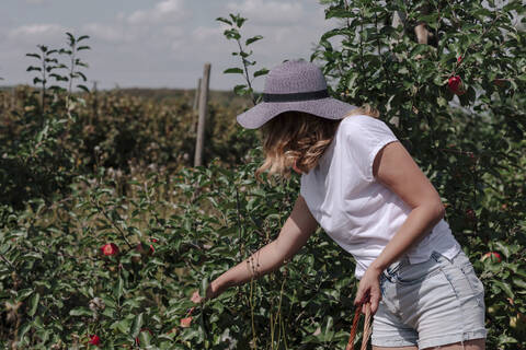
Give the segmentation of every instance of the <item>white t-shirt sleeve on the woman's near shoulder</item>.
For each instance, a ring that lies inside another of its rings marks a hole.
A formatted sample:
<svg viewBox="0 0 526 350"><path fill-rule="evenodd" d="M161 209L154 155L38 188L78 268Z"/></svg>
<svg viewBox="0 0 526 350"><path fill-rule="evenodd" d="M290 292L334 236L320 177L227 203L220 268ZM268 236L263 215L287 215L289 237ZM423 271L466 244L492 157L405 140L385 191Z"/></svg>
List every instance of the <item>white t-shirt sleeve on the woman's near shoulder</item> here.
<svg viewBox="0 0 526 350"><path fill-rule="evenodd" d="M380 119L352 116L345 120L345 140L351 160L367 182L375 179L373 163L376 154L388 143L398 141L392 130Z"/></svg>

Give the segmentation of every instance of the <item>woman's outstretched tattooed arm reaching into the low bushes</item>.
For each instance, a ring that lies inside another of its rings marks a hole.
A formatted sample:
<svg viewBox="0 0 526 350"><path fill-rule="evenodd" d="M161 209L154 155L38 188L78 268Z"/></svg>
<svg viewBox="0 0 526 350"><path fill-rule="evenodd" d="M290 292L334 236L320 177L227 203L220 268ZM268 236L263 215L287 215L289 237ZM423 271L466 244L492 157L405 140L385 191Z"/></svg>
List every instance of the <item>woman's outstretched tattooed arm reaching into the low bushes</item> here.
<svg viewBox="0 0 526 350"><path fill-rule="evenodd" d="M278 237L215 279L206 291L206 299L216 298L229 287L243 284L281 267L305 245L317 226L318 222L310 213L304 197L298 196ZM198 292L194 292L192 301L198 303L203 298Z"/></svg>

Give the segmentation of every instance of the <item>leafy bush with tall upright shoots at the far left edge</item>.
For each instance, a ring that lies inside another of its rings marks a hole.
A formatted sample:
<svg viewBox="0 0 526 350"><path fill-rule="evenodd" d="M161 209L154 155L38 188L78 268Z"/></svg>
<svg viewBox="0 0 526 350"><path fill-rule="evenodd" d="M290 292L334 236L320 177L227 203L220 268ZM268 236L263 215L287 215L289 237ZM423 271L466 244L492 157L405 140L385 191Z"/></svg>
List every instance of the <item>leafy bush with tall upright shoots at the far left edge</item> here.
<svg viewBox="0 0 526 350"><path fill-rule="evenodd" d="M85 81L85 75L78 71L78 67L85 63L76 56L76 45L87 36L77 39L68 33L68 38L67 48L58 50L38 45L38 54L26 55L38 60L38 65L30 66L27 71L37 72L33 82L39 84L41 90L25 91L28 94L22 98L21 108L4 116L0 135L0 190L3 194L0 205L22 209L31 198L50 201L55 195L68 191L76 174L75 147L68 131L76 117L75 106L83 101L71 96L71 88L76 79ZM70 58L69 66L58 60L59 54ZM69 70L69 74L61 74L64 69ZM64 81L69 81L68 91L59 85ZM0 209L0 217L2 213Z"/></svg>

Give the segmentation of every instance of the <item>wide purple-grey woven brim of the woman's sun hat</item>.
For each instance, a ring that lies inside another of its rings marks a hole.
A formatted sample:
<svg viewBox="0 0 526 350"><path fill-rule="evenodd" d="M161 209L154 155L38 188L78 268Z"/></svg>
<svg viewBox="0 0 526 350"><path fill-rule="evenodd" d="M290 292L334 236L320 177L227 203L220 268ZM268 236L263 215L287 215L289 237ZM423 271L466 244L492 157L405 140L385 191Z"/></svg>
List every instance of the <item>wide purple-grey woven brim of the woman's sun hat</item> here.
<svg viewBox="0 0 526 350"><path fill-rule="evenodd" d="M289 110L304 112L325 119L342 119L355 109L348 103L327 97L299 102L262 102L237 117L238 122L247 129L258 129L275 116Z"/></svg>

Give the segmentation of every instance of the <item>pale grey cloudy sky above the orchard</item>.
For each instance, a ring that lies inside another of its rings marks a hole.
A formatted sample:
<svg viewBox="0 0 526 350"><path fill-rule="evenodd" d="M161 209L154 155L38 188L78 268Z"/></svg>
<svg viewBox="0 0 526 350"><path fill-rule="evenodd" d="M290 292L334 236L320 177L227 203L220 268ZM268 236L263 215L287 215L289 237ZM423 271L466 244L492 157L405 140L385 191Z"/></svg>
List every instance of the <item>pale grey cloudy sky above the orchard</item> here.
<svg viewBox="0 0 526 350"><path fill-rule="evenodd" d="M35 60L25 54L38 44L64 47L70 32L90 36L91 50L81 55L89 88L96 81L99 89L194 89L210 62L210 89L230 90L243 80L222 71L240 67L240 59L216 18L248 18L243 37L264 37L251 45L255 67L270 69L285 59L309 60L334 25L323 9L318 0L1 0L0 84L31 84L26 68ZM258 91L263 82L255 79Z"/></svg>

